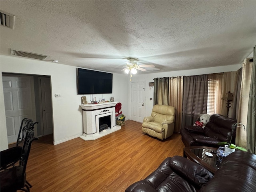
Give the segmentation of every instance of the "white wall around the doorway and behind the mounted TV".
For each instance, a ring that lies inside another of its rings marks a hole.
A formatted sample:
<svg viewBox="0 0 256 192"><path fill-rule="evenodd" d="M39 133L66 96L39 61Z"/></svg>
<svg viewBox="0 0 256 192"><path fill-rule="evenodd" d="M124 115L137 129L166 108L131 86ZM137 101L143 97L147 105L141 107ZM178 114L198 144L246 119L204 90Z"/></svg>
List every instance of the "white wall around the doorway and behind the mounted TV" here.
<svg viewBox="0 0 256 192"><path fill-rule="evenodd" d="M82 128L82 110L81 96L76 94L76 67L18 58L11 56L0 56L1 88L0 88L0 150L8 148L6 120L4 109L4 96L2 89L2 72L37 74L51 76L52 86L52 112L54 126L54 144L65 142L72 138L77 138L83 133ZM129 80L122 74L113 74L113 94L84 95L90 101L90 97L97 99L104 97L109 100L114 96L114 100L122 103L122 112L128 115L128 89ZM55 98L54 94L60 94L61 97ZM36 120L34 120L36 121Z"/></svg>

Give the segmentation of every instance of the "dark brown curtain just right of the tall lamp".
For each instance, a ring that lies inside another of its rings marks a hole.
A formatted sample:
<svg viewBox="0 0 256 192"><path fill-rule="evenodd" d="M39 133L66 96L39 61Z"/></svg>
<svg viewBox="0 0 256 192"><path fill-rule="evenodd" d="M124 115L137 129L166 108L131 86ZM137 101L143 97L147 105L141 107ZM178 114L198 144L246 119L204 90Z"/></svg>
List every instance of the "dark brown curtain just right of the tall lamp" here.
<svg viewBox="0 0 256 192"><path fill-rule="evenodd" d="M238 118L238 107L240 101L240 91L241 91L241 82L242 82L242 68L238 69L236 74L236 86L233 94L233 107L232 107L232 115L230 118L237 119Z"/></svg>

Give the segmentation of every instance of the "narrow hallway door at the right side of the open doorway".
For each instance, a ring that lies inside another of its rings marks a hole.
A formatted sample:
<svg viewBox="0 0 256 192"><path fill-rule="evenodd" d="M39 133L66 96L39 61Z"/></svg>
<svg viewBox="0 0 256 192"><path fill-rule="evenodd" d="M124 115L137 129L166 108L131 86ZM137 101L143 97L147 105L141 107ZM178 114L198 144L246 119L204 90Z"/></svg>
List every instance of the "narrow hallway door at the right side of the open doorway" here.
<svg viewBox="0 0 256 192"><path fill-rule="evenodd" d="M52 93L50 78L40 78L41 99L42 99L42 117L43 134L53 133L52 126Z"/></svg>

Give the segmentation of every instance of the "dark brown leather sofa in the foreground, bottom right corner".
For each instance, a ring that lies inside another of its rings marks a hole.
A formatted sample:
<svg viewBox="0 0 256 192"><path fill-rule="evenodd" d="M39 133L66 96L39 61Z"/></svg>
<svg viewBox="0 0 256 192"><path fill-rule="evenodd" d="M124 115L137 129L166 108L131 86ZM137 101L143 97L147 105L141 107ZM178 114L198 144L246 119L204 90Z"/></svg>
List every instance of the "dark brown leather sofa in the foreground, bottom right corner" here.
<svg viewBox="0 0 256 192"><path fill-rule="evenodd" d="M228 155L213 176L211 172L181 156L166 158L144 180L125 192L255 192L256 155L236 151Z"/></svg>

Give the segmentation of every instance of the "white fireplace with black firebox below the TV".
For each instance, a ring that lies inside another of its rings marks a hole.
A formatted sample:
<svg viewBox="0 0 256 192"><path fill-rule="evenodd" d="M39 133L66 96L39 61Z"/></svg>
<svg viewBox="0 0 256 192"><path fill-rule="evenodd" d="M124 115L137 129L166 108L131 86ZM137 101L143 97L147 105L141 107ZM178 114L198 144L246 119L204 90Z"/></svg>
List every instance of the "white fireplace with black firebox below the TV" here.
<svg viewBox="0 0 256 192"><path fill-rule="evenodd" d="M83 140L95 140L121 129L116 125L115 106L117 102L80 105L83 110ZM104 124L104 125L102 125ZM107 125L107 126L106 126ZM100 131L100 126L105 126Z"/></svg>

